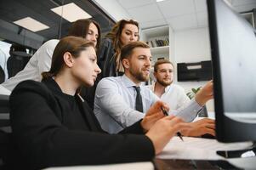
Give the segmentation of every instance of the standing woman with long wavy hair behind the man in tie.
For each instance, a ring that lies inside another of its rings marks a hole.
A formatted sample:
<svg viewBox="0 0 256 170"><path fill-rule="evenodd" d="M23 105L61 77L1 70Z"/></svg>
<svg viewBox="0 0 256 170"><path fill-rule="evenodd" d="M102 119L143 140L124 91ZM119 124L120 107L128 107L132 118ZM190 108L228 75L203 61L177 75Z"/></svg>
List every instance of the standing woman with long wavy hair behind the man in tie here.
<svg viewBox="0 0 256 170"><path fill-rule="evenodd" d="M139 41L139 23L135 20L119 20L100 44L98 64L102 70L101 77L117 77L123 74L121 48L135 41Z"/></svg>

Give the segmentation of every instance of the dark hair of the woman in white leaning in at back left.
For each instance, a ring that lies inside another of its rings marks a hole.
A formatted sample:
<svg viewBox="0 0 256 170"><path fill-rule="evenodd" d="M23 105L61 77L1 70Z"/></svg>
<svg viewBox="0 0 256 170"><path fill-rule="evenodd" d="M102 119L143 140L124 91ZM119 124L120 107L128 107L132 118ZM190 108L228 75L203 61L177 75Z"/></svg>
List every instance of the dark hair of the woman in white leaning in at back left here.
<svg viewBox="0 0 256 170"><path fill-rule="evenodd" d="M100 25L94 20L82 19L82 20L75 21L71 25L68 35L85 38L88 34L88 29L89 29L89 26L91 23L93 23L98 29L99 37L97 38L96 49L99 49L99 47L100 47Z"/></svg>

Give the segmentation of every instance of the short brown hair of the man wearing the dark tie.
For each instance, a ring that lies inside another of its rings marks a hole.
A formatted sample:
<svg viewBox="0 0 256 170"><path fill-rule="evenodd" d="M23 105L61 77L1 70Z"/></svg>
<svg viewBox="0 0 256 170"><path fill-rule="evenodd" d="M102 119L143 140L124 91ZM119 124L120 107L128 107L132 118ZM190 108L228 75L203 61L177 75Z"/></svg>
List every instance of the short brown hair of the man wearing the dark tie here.
<svg viewBox="0 0 256 170"><path fill-rule="evenodd" d="M120 59L128 59L133 54L134 48L150 48L145 42L130 42L121 49Z"/></svg>

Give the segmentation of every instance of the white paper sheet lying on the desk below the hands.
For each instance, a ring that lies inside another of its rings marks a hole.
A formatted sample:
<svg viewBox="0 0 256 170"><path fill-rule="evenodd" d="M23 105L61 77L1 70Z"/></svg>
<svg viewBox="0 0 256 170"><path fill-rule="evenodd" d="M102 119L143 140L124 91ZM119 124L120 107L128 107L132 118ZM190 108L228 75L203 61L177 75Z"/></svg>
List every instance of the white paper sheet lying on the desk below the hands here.
<svg viewBox="0 0 256 170"><path fill-rule="evenodd" d="M251 146L252 142L242 143L219 143L216 139L202 139L174 137L162 150L157 158L160 159L193 159L193 160L221 160L222 156L216 154L217 150L242 150Z"/></svg>

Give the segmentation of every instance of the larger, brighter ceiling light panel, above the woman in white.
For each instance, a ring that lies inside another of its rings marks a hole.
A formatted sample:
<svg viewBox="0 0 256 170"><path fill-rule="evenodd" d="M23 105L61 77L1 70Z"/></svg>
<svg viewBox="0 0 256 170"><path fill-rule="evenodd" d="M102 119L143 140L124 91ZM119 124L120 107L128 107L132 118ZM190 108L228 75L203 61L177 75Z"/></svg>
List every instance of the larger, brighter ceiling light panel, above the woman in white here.
<svg viewBox="0 0 256 170"><path fill-rule="evenodd" d="M82 8L78 7L75 3L68 3L60 7L51 8L51 10L70 22L92 18L90 14L82 10Z"/></svg>

